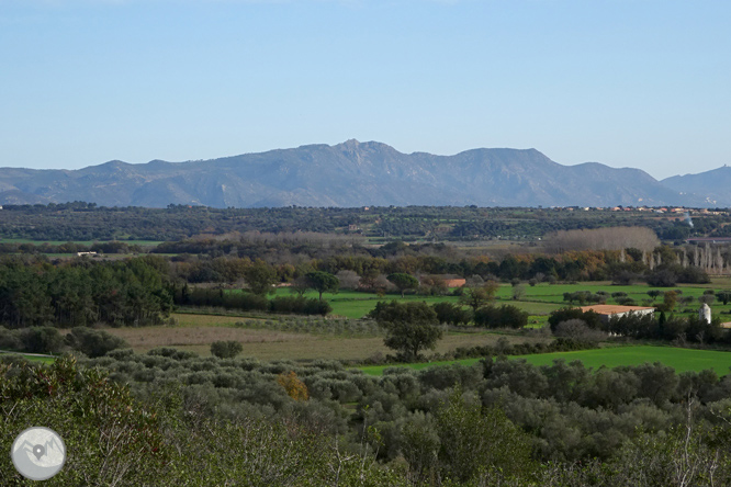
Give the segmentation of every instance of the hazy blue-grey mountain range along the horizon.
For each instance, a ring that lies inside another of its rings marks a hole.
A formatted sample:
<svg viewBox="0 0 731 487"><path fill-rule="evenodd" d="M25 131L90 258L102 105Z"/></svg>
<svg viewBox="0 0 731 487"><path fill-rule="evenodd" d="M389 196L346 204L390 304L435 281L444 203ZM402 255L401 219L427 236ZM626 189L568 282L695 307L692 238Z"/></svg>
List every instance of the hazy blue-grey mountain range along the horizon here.
<svg viewBox="0 0 731 487"><path fill-rule="evenodd" d="M730 206L731 168L657 181L640 169L563 166L536 149L402 154L378 141L78 170L0 168L0 204L103 206Z"/></svg>

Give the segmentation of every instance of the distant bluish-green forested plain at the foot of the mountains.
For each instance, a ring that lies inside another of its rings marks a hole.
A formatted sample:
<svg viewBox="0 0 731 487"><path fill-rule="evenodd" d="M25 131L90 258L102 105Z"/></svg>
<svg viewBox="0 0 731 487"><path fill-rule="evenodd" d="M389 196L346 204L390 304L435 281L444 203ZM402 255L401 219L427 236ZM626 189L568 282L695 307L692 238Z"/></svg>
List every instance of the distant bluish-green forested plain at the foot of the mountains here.
<svg viewBox="0 0 731 487"><path fill-rule="evenodd" d="M627 211L625 211L627 209ZM427 241L501 239L536 241L559 230L640 226L662 240L731 236L731 215L723 208L654 213L652 208L529 208L477 206L212 208L103 207L74 202L4 205L0 236L37 241L172 241L201 234L318 233L382 239ZM660 211L660 209L659 209Z"/></svg>

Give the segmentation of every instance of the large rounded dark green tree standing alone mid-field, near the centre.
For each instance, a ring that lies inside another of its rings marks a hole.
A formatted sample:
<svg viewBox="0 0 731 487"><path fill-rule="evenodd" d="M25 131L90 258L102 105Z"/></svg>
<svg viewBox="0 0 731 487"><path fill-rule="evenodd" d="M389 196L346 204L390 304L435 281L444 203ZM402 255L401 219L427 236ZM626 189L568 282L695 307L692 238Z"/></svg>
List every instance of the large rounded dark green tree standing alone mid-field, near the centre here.
<svg viewBox="0 0 731 487"><path fill-rule="evenodd" d="M369 316L385 329L383 343L405 362L418 359L424 349L434 350L442 337L437 314L426 303L379 302Z"/></svg>

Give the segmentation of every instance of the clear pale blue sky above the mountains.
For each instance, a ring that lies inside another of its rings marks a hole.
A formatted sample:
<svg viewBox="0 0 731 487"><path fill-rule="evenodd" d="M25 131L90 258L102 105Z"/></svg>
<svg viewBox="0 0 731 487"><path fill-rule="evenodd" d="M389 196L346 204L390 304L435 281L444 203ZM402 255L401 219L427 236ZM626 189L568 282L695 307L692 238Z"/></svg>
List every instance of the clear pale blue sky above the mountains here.
<svg viewBox="0 0 731 487"><path fill-rule="evenodd" d="M0 0L0 167L350 138L731 162L728 0Z"/></svg>

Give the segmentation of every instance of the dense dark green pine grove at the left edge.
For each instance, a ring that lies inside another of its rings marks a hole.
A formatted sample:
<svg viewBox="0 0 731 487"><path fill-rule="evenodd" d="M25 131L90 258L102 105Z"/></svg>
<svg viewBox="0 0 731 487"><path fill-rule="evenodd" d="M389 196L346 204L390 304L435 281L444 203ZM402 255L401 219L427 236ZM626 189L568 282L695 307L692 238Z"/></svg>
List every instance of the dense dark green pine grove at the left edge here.
<svg viewBox="0 0 731 487"><path fill-rule="evenodd" d="M159 258L52 265L0 260L0 325L76 327L160 324L172 308L167 263Z"/></svg>

